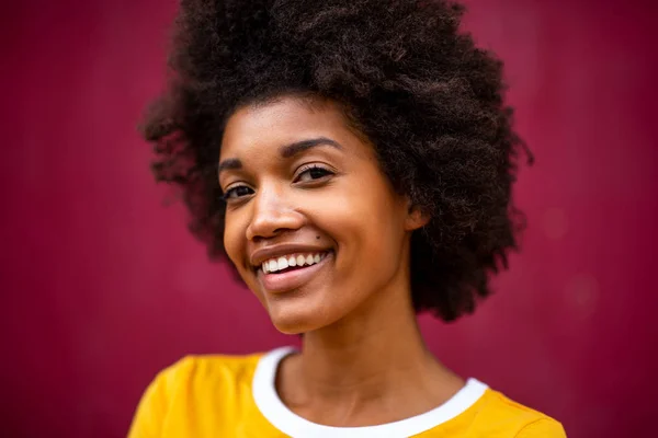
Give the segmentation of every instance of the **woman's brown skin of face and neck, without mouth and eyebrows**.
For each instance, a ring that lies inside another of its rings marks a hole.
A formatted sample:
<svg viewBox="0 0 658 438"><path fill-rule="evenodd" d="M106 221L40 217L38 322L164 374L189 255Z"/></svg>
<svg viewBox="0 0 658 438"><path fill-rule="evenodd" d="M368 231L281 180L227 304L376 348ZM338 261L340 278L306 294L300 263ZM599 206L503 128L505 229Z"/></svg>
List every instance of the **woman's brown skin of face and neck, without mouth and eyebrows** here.
<svg viewBox="0 0 658 438"><path fill-rule="evenodd" d="M338 146L281 153L316 138ZM280 367L282 401L315 423L366 426L421 414L457 392L463 380L428 351L411 306L410 235L428 218L395 193L340 107L291 95L241 107L222 142L220 163L232 159L240 169L219 173L228 256L274 325L305 334L302 353ZM273 291L253 254L280 244L331 255L304 285Z"/></svg>

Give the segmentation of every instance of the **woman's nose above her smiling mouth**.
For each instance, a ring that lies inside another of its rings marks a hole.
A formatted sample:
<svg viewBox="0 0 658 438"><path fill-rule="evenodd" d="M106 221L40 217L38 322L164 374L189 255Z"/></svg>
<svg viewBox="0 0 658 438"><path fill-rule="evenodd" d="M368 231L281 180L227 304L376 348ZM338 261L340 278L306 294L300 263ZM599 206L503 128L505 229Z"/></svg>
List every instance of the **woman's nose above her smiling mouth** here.
<svg viewBox="0 0 658 438"><path fill-rule="evenodd" d="M252 200L252 216L247 227L247 239L270 239L304 224L304 215L292 205L288 196L276 188L261 188Z"/></svg>

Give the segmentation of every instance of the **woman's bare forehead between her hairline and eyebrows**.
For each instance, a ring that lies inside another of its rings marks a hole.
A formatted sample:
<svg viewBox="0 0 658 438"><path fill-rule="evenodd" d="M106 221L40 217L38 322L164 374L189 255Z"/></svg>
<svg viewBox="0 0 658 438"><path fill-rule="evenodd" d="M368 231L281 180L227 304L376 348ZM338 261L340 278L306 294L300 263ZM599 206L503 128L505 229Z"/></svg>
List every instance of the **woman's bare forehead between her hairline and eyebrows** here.
<svg viewBox="0 0 658 438"><path fill-rule="evenodd" d="M306 138L353 141L354 134L338 104L294 96L238 108L227 120L220 158L254 146L281 146Z"/></svg>

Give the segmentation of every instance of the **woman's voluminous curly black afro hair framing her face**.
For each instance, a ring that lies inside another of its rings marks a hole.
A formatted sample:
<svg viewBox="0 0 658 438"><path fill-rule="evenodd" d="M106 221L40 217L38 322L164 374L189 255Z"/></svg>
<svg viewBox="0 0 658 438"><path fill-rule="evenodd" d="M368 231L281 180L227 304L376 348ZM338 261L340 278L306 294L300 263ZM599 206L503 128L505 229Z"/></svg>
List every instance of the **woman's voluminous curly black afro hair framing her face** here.
<svg viewBox="0 0 658 438"><path fill-rule="evenodd" d="M431 218L411 237L417 311L472 313L508 267L523 215L502 62L436 0L182 0L167 91L143 124L158 181L177 184L190 229L225 258L217 182L224 124L284 94L338 102L374 146L394 187Z"/></svg>

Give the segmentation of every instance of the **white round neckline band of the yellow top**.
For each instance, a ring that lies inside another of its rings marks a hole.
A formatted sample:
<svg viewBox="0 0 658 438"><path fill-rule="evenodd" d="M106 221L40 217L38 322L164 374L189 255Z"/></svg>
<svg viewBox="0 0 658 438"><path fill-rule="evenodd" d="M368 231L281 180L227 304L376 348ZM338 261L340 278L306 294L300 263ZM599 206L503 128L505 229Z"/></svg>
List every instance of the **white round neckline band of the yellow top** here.
<svg viewBox="0 0 658 438"><path fill-rule="evenodd" d="M275 379L281 360L294 353L293 347L281 347L263 355L256 366L252 395L261 414L282 433L296 437L316 438L404 438L432 429L473 406L488 387L468 379L451 399L433 410L398 422L375 426L334 427L309 422L292 412L276 393Z"/></svg>

